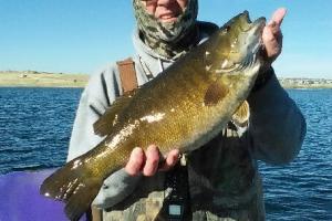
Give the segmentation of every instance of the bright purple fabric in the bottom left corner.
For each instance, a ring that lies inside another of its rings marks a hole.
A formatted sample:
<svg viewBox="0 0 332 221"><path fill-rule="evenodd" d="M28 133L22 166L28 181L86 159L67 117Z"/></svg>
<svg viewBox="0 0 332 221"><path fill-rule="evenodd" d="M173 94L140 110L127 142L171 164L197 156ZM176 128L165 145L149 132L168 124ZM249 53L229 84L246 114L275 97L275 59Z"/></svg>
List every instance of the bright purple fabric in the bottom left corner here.
<svg viewBox="0 0 332 221"><path fill-rule="evenodd" d="M0 221L68 220L63 212L64 203L39 193L40 185L53 171L0 175Z"/></svg>

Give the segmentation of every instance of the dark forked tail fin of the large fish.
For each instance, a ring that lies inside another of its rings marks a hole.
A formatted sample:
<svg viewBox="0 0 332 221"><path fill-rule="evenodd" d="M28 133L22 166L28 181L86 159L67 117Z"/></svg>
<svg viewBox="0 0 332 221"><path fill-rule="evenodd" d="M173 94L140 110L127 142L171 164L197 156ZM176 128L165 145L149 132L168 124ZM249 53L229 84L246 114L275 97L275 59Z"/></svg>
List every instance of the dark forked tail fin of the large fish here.
<svg viewBox="0 0 332 221"><path fill-rule="evenodd" d="M64 201L68 218L79 220L91 206L102 183L103 179L95 177L79 158L48 177L40 193Z"/></svg>

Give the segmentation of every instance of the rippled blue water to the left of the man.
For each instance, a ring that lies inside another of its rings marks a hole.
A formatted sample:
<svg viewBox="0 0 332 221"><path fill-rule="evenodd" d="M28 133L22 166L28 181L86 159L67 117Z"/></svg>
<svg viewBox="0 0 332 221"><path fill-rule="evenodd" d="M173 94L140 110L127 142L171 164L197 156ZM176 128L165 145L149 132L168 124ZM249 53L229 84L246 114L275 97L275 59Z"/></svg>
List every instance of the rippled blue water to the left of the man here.
<svg viewBox="0 0 332 221"><path fill-rule="evenodd" d="M65 161L81 92L0 87L0 173Z"/></svg>

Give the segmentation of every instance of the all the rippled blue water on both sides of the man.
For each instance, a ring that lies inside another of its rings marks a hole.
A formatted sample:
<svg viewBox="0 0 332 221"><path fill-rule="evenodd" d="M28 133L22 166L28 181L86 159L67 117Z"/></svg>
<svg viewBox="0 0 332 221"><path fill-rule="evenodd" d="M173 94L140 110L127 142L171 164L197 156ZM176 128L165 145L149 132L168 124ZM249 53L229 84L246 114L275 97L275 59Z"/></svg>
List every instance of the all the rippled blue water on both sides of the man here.
<svg viewBox="0 0 332 221"><path fill-rule="evenodd" d="M0 87L0 173L65 161L80 88ZM332 90L294 90L307 137L288 166L260 162L267 220L332 220Z"/></svg>

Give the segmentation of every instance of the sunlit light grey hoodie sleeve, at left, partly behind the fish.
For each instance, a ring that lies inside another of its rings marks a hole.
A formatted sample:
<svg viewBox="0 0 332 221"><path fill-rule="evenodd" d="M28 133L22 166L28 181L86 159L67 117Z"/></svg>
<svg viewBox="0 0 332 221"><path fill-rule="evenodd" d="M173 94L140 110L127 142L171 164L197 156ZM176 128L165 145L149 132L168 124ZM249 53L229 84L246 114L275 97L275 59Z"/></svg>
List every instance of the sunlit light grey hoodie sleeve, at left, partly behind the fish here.
<svg viewBox="0 0 332 221"><path fill-rule="evenodd" d="M105 112L116 96L118 90L117 69L106 69L95 73L82 93L73 125L68 161L91 150L103 138L95 135L93 124ZM131 177L123 169L104 180L93 204L108 208L127 197L138 182L139 177Z"/></svg>

